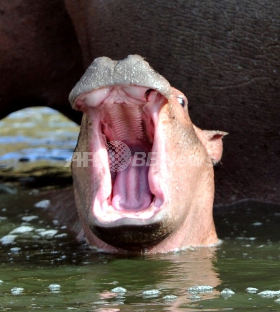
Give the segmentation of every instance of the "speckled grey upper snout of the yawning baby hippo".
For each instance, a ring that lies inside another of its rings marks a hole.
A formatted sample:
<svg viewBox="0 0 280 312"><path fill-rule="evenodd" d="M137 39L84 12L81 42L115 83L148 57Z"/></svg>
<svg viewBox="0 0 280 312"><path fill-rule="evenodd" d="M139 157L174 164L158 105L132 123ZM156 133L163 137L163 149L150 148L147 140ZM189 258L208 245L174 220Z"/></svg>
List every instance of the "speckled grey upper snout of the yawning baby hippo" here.
<svg viewBox="0 0 280 312"><path fill-rule="evenodd" d="M113 61L103 56L91 63L71 91L69 101L72 107L79 95L106 85L147 86L157 90L167 99L171 93L169 82L154 71L140 55L129 55L121 61Z"/></svg>

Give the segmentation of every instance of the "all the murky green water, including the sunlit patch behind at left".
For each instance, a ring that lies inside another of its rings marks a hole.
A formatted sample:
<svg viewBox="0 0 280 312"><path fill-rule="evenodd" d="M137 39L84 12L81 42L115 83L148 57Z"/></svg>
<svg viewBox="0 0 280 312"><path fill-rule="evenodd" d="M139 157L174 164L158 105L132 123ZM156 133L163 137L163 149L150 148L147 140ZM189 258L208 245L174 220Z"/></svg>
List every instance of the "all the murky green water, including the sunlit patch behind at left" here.
<svg viewBox="0 0 280 312"><path fill-rule="evenodd" d="M251 202L215 209L223 239L215 248L138 257L98 254L34 207L38 189L69 177L69 169L61 168L77 135L73 124L50 111L34 114L38 122L26 120L25 130L25 114L1 122L0 311L280 311L280 294L259 295L280 290L276 206ZM191 289L201 285L212 288ZM258 290L248 293L248 287ZM234 293L224 295L225 288Z"/></svg>

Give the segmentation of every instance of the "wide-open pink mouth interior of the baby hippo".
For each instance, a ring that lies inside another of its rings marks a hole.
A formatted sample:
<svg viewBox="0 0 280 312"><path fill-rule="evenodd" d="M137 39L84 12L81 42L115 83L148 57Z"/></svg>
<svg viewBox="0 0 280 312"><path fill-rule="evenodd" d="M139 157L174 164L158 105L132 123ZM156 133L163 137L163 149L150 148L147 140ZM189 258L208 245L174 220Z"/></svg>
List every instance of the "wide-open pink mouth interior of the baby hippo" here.
<svg viewBox="0 0 280 312"><path fill-rule="evenodd" d="M128 218L145 224L161 210L165 162L159 113L166 103L158 91L134 85L103 87L78 97L76 107L92 123L93 175L100 178L92 211L100 224L128 224Z"/></svg>

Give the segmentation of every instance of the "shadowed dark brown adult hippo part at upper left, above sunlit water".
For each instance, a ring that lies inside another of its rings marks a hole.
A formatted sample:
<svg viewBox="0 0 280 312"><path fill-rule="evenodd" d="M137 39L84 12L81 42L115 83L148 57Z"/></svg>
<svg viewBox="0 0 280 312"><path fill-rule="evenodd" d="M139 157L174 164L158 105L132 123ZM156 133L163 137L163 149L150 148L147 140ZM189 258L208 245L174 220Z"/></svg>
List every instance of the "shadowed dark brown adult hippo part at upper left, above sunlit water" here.
<svg viewBox="0 0 280 312"><path fill-rule="evenodd" d="M0 17L0 118L39 105L80 122L67 98L84 69L63 1L1 1Z"/></svg>

